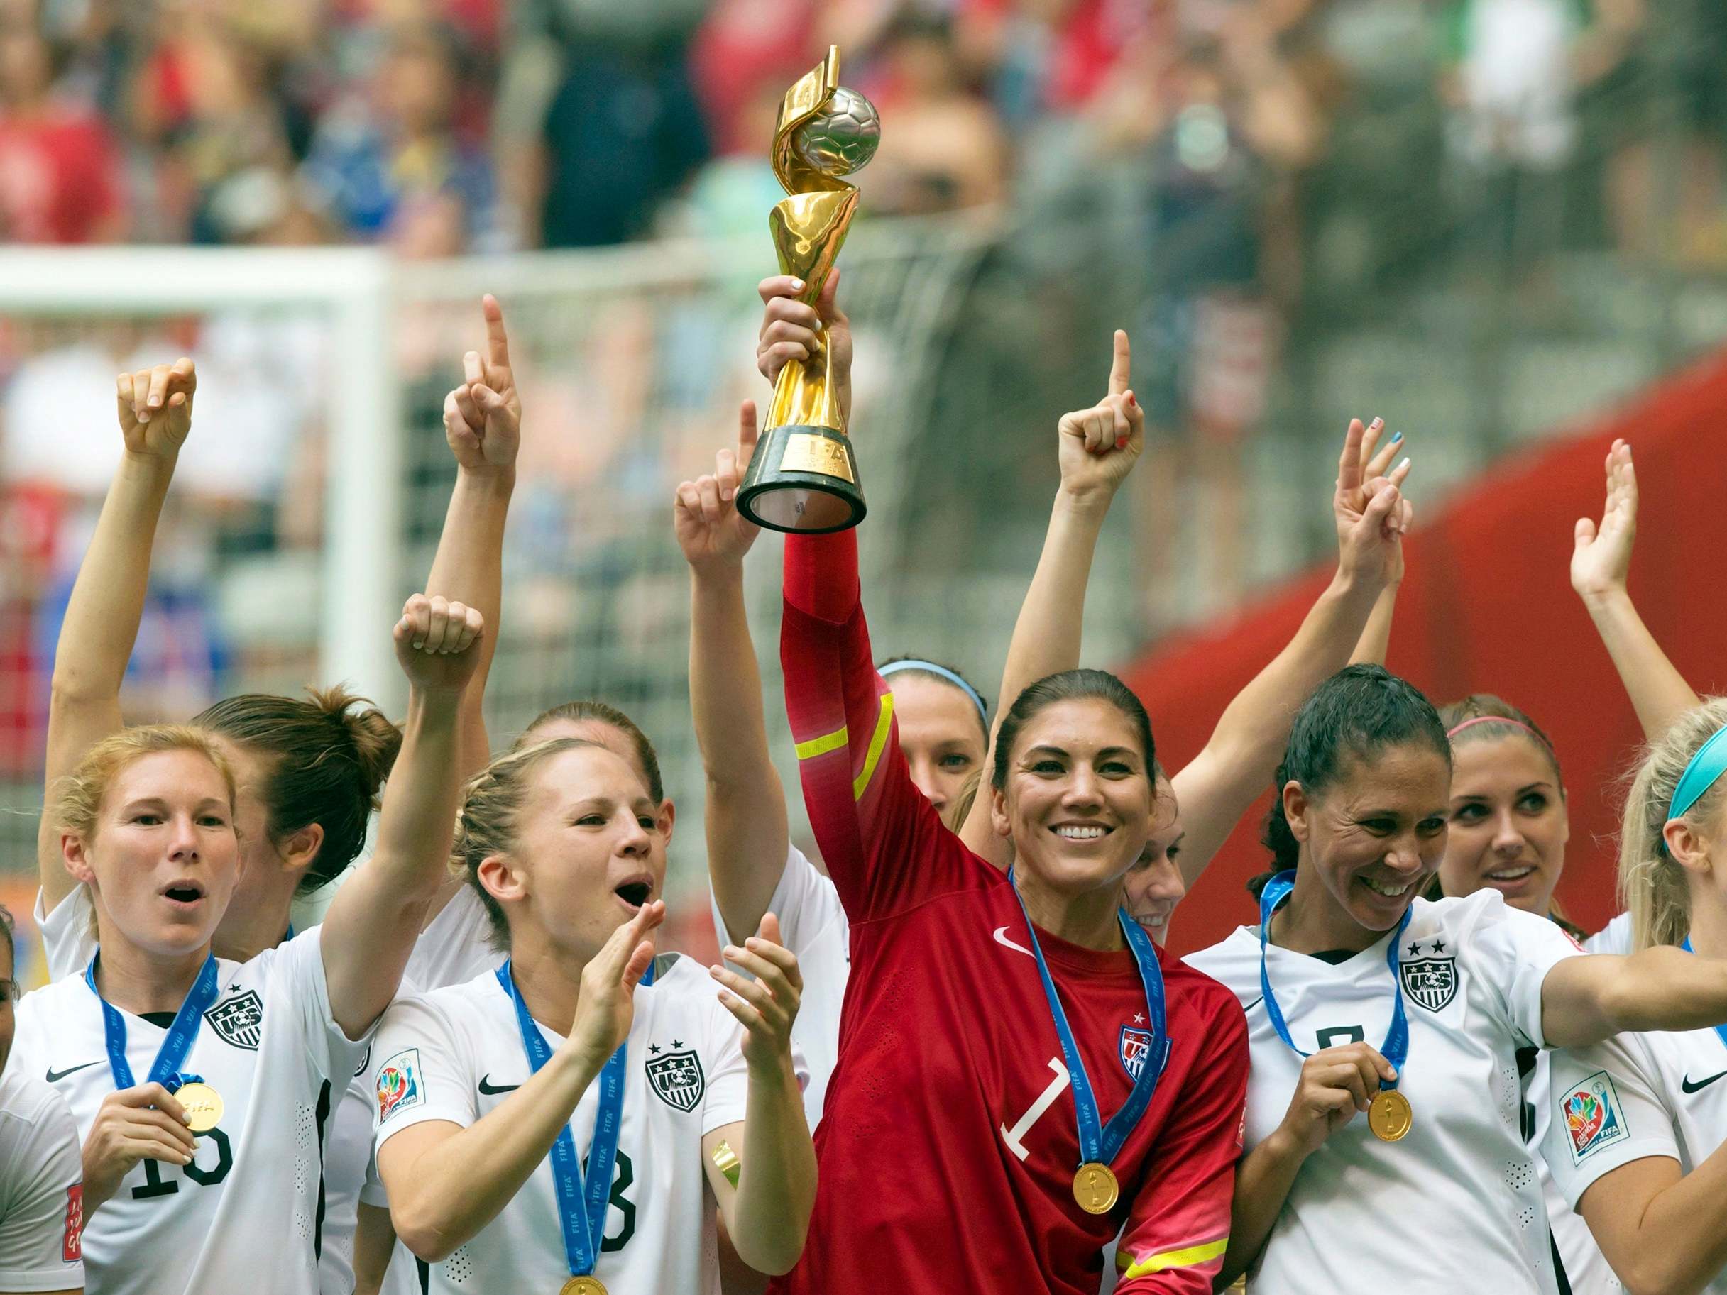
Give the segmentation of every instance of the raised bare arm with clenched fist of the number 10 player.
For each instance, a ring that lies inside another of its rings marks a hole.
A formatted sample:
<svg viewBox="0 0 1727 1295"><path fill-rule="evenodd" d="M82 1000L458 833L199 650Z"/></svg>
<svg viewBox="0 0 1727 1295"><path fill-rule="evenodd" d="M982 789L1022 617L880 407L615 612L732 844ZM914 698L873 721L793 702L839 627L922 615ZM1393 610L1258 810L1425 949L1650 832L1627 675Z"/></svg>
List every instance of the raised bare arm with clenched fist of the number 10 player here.
<svg viewBox="0 0 1727 1295"><path fill-rule="evenodd" d="M447 874L461 803L461 694L485 623L461 603L414 594L395 622L408 675L402 749L383 787L378 848L337 891L323 920L330 1008L357 1039L395 998L408 955Z"/></svg>

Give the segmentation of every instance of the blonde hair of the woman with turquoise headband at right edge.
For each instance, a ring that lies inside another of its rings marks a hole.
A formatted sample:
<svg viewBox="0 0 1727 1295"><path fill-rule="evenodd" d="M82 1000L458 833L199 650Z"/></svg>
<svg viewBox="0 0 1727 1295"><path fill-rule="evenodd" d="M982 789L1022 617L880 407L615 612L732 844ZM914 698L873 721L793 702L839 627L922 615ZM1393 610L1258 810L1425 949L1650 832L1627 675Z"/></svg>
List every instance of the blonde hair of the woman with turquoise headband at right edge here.
<svg viewBox="0 0 1727 1295"><path fill-rule="evenodd" d="M1727 729L1727 698L1710 698L1680 715L1642 749L1625 794L1620 829L1618 888L1630 912L1632 948L1682 944L1691 934L1691 889L1686 869L1667 853L1663 829L1686 765L1720 729ZM1710 787L1686 818L1710 818L1727 794L1727 779Z"/></svg>

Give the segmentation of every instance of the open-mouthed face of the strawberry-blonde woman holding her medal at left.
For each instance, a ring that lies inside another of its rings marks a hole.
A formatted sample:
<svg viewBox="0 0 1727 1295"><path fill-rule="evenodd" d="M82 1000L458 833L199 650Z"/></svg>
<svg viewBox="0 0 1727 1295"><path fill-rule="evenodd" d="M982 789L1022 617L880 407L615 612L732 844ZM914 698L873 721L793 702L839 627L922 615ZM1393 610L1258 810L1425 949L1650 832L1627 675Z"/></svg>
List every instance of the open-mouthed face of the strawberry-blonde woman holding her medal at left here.
<svg viewBox="0 0 1727 1295"><path fill-rule="evenodd" d="M62 836L98 915L147 953L211 943L240 879L228 784L197 751L157 751L107 787L92 839Z"/></svg>

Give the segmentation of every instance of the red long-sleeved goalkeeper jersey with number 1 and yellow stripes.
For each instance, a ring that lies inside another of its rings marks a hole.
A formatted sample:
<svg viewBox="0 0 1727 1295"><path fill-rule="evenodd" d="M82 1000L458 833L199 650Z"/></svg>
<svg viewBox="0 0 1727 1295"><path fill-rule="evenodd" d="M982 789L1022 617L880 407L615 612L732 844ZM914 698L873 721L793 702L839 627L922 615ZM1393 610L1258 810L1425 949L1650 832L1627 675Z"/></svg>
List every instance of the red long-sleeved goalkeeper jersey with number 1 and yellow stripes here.
<svg viewBox="0 0 1727 1295"><path fill-rule="evenodd" d="M1228 989L1159 951L1171 1052L1114 1160L1121 1200L1072 1197L1072 1086L1007 877L919 794L872 665L857 542L786 542L786 708L810 822L851 922L839 1060L815 1133L808 1245L779 1295L1204 1295L1230 1233L1247 1026ZM1147 1064L1126 950L1038 931L1107 1121Z"/></svg>

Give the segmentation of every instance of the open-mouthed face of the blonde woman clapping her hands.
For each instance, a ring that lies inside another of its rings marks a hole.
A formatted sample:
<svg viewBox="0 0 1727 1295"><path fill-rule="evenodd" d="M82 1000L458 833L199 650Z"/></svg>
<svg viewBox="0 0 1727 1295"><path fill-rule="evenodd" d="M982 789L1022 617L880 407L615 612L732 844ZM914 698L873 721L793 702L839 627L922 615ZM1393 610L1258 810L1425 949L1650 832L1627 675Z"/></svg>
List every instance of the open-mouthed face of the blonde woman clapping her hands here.
<svg viewBox="0 0 1727 1295"><path fill-rule="evenodd" d="M665 844L648 787L615 753L582 746L544 760L508 855L480 881L513 932L534 924L582 962L665 886Z"/></svg>

